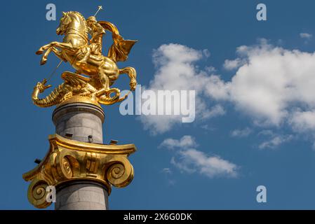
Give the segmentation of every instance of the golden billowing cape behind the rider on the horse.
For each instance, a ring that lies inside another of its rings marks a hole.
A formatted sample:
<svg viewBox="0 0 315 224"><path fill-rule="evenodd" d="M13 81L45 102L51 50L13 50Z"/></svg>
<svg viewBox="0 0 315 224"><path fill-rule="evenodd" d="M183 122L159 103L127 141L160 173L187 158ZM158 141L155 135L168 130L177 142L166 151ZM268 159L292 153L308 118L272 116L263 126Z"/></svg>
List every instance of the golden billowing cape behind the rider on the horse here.
<svg viewBox="0 0 315 224"><path fill-rule="evenodd" d="M137 41L124 40L122 36L119 35L118 29L111 22L99 21L98 22L104 29L107 29L112 32L112 38L114 43L109 48L108 55L110 59L113 59L115 62L124 62L128 59L128 54L133 48L133 45Z"/></svg>

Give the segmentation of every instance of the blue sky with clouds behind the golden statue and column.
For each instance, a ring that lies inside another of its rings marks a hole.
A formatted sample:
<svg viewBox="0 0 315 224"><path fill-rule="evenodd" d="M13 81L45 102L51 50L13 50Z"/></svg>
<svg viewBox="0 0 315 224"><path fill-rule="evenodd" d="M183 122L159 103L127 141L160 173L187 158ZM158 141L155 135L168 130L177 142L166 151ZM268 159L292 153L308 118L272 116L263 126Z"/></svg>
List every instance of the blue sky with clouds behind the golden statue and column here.
<svg viewBox="0 0 315 224"><path fill-rule="evenodd" d="M105 142L138 147L130 156L135 179L112 190L110 209L314 209L315 41L305 34L315 35L315 2L261 2L267 6L264 22L256 20L260 1L6 2L0 15L0 209L34 209L22 174L43 158L54 133L53 108L34 106L31 94L58 59L51 55L39 66L34 52L61 41L55 29L62 11L88 17L99 5L105 10L98 20L139 40L119 67L135 67L138 83L147 88L172 89L175 81L163 78L176 80L180 73L170 68L184 66L190 70L183 83L198 87L203 105L194 123L185 124L121 116L119 105L104 107ZM55 3L57 21L46 20L47 3ZM109 41L107 35L106 49ZM62 64L51 84L61 83L65 70L73 71ZM127 83L120 78L116 86ZM168 126L159 129L160 121ZM267 187L267 203L256 202L260 185Z"/></svg>

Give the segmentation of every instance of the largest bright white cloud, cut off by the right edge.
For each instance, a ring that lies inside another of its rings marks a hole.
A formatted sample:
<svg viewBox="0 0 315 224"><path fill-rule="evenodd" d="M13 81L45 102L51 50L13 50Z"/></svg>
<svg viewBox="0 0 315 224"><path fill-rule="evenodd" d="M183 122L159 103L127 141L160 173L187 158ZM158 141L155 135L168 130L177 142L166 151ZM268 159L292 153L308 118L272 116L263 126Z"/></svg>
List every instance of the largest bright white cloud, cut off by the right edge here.
<svg viewBox="0 0 315 224"><path fill-rule="evenodd" d="M218 90L208 91L211 99L234 103L257 125L286 124L298 132L315 130L314 53L286 50L266 40L259 45L243 45L237 53L246 64L231 81L216 76Z"/></svg>

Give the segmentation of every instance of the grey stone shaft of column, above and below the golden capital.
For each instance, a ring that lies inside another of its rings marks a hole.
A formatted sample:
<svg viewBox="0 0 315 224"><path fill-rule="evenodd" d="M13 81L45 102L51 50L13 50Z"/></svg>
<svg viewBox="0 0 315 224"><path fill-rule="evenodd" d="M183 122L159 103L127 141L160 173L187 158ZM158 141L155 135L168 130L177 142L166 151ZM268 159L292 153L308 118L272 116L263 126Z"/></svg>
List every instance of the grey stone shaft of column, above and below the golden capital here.
<svg viewBox="0 0 315 224"><path fill-rule="evenodd" d="M105 113L86 103L70 103L53 111L55 132L62 137L102 144ZM68 181L56 188L55 210L107 210L108 190L95 181Z"/></svg>

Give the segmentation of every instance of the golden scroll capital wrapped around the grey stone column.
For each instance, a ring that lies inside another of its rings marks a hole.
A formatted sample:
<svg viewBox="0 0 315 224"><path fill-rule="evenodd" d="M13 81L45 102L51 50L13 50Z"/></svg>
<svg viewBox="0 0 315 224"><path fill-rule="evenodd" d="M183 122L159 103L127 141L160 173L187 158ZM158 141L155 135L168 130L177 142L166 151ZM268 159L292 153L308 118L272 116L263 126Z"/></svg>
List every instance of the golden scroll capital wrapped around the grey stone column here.
<svg viewBox="0 0 315 224"><path fill-rule="evenodd" d="M111 186L123 188L133 180L133 166L128 155L136 151L135 145L104 145L74 141L58 134L49 136L50 148L41 163L23 174L29 185L28 199L34 207L43 209L46 187L59 186L73 180L102 183L111 192Z"/></svg>

